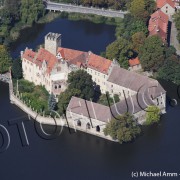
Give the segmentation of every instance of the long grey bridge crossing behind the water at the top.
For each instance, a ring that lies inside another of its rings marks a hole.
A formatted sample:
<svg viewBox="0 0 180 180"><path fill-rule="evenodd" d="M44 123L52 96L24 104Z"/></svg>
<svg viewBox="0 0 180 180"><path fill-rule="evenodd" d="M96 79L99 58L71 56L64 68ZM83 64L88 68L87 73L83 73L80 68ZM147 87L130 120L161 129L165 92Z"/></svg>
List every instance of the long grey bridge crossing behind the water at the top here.
<svg viewBox="0 0 180 180"><path fill-rule="evenodd" d="M94 7L85 7L85 6L77 6L72 4L63 4L63 3L54 3L51 1L44 1L47 10L50 11L60 11L60 12L69 12L69 13L82 13L82 14L95 14L106 17L120 17L124 18L124 15L127 14L127 11L115 11L112 9L98 9Z"/></svg>

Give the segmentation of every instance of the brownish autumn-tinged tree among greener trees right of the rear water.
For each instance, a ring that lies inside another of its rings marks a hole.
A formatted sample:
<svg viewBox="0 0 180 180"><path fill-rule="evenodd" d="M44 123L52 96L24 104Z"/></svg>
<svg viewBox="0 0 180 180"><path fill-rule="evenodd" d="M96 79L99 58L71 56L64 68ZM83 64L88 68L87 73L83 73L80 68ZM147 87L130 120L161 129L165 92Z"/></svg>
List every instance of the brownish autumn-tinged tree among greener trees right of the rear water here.
<svg viewBox="0 0 180 180"><path fill-rule="evenodd" d="M134 51L139 53L141 47L144 44L145 39L146 39L146 36L144 32L137 32L132 36L132 43L133 43Z"/></svg>

